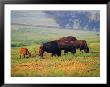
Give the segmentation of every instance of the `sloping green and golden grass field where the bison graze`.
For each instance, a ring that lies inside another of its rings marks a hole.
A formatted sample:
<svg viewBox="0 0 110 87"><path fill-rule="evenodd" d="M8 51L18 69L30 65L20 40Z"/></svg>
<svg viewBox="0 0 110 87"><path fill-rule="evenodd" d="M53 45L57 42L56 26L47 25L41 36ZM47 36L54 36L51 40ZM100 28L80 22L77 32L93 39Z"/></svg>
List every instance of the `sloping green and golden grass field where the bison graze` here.
<svg viewBox="0 0 110 87"><path fill-rule="evenodd" d="M90 53L76 54L62 51L61 57L51 57L49 53L44 58L38 55L41 43L56 40L64 36L75 36L87 41ZM18 50L27 47L30 58L20 58ZM100 37L98 32L49 29L32 26L11 26L11 76L12 77L99 77L100 76Z"/></svg>

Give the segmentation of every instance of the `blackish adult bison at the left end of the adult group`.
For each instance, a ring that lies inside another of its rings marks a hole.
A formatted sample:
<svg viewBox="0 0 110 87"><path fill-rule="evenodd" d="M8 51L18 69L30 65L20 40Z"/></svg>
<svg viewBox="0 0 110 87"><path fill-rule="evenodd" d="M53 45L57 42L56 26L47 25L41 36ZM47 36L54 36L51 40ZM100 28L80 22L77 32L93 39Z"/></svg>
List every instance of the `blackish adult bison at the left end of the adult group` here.
<svg viewBox="0 0 110 87"><path fill-rule="evenodd" d="M39 48L39 56L43 57L44 52L52 53L52 56L61 56L61 50L56 40L43 43Z"/></svg>

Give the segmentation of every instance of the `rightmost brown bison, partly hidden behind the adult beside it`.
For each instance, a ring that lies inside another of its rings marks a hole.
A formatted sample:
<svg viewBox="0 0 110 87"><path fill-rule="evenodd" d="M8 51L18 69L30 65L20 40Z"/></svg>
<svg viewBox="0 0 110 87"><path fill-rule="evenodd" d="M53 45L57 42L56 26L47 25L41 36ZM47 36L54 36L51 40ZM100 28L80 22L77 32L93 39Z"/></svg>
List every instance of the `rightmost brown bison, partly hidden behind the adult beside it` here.
<svg viewBox="0 0 110 87"><path fill-rule="evenodd" d="M89 47L87 46L87 42L85 40L76 40L71 41L70 43L73 44L76 49L89 53Z"/></svg>

